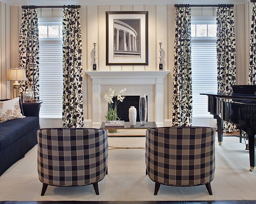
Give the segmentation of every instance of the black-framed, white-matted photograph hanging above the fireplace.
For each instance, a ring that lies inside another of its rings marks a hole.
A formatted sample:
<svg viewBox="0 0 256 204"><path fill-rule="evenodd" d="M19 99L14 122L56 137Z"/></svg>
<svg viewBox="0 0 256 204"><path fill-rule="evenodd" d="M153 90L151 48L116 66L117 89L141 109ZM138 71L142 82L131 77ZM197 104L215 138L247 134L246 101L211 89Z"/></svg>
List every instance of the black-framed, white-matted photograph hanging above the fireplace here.
<svg viewBox="0 0 256 204"><path fill-rule="evenodd" d="M148 65L148 11L106 11L106 65Z"/></svg>

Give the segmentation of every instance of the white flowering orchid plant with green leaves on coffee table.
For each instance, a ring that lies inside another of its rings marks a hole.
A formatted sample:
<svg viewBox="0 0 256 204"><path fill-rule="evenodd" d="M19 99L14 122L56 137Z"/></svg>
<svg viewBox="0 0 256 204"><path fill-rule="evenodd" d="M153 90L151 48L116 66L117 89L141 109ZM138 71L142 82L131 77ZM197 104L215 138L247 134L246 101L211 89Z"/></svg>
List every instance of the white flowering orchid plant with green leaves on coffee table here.
<svg viewBox="0 0 256 204"><path fill-rule="evenodd" d="M117 105L125 99L125 96L122 96L125 91L126 88L120 90L119 94L116 94L115 88L110 88L108 93L104 93L104 99L108 102L106 120L119 120L117 116Z"/></svg>

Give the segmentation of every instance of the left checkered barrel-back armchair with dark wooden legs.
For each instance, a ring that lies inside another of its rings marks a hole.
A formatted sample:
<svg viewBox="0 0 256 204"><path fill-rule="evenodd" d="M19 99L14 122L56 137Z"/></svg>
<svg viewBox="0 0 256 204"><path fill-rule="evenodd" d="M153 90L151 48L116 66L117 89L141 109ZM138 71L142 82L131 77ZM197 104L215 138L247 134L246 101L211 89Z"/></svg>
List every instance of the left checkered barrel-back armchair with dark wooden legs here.
<svg viewBox="0 0 256 204"><path fill-rule="evenodd" d="M82 186L108 174L108 133L103 129L53 128L38 130L38 176L47 186Z"/></svg>

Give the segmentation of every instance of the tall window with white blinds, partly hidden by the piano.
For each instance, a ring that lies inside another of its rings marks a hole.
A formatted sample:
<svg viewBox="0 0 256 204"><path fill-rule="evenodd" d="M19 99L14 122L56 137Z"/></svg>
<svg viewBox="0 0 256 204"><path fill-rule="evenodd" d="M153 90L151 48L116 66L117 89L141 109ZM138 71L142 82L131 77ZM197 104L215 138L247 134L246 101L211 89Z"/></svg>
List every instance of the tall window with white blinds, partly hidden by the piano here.
<svg viewBox="0 0 256 204"><path fill-rule="evenodd" d="M216 18L192 18L192 117L212 117L206 96L217 91Z"/></svg>

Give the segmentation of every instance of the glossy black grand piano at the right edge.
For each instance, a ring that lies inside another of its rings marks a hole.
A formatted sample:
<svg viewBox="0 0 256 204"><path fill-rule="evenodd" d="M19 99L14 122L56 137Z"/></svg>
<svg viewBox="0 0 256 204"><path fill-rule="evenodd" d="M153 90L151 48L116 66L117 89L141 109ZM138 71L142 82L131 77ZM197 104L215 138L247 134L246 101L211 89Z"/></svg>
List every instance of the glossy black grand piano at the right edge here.
<svg viewBox="0 0 256 204"><path fill-rule="evenodd" d="M247 133L252 172L256 164L256 85L234 85L232 88L233 94L201 95L208 96L208 111L217 119L219 145L223 141L223 121L235 123Z"/></svg>

